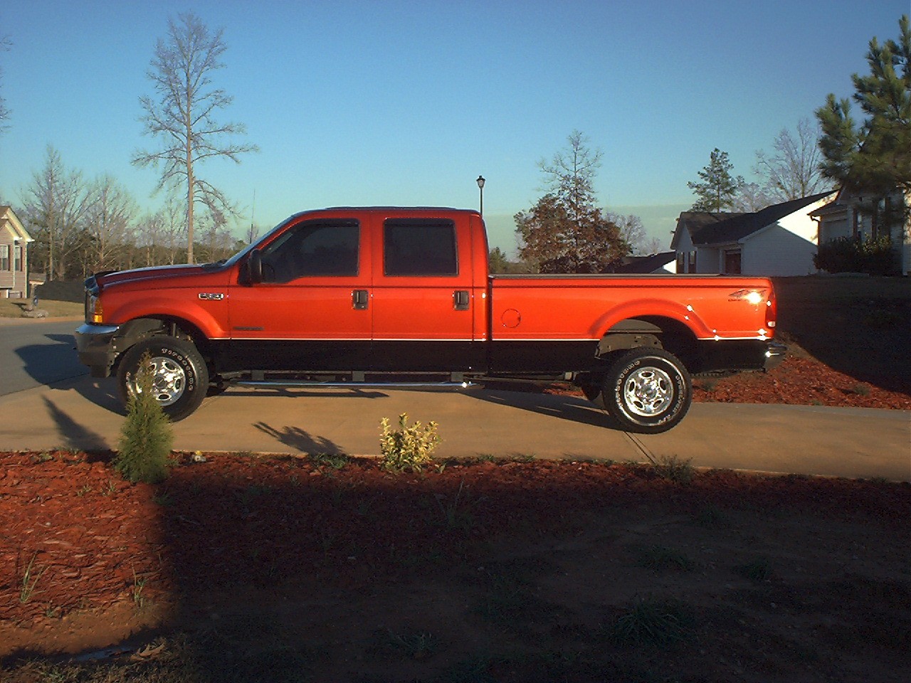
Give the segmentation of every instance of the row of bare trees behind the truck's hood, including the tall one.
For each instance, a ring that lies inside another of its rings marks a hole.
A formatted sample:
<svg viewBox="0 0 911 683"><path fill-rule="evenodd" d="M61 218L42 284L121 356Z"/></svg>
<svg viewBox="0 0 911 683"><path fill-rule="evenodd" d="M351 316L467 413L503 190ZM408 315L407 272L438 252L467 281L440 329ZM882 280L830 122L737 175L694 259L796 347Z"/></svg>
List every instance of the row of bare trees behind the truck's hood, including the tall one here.
<svg viewBox="0 0 911 683"><path fill-rule="evenodd" d="M0 50L9 46L0 38ZM191 12L169 18L167 36L156 44L147 72L155 94L139 98L144 134L155 145L136 151L131 161L159 171L155 194L165 196L159 210L140 214L115 178L87 179L48 146L44 167L23 189L17 209L36 240L30 270L67 280L97 270L219 260L241 246L227 228L240 210L200 173L212 158L237 163L257 150L233 141L245 132L242 124L217 120L232 100L212 85L226 49L223 31L210 31ZM8 116L0 97L0 130ZM251 229L251 239L253 234Z"/></svg>

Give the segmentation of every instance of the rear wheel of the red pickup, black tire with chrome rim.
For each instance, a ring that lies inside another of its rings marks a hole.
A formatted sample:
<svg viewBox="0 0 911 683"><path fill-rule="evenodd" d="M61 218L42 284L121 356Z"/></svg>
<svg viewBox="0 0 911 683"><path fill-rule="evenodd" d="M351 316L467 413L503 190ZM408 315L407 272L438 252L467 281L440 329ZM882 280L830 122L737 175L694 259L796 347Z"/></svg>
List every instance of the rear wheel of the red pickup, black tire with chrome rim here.
<svg viewBox="0 0 911 683"><path fill-rule="evenodd" d="M610 366L601 397L627 432L667 432L690 410L690 372L662 349L632 349Z"/></svg>

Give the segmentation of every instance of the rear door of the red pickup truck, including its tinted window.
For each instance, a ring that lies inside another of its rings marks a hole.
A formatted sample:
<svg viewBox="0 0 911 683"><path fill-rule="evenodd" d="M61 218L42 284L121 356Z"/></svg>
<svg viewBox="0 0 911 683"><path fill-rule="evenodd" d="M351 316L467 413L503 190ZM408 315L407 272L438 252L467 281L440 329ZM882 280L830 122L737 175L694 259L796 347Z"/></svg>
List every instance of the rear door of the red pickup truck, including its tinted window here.
<svg viewBox="0 0 911 683"><path fill-rule="evenodd" d="M387 218L375 226L374 371L463 372L480 368L478 302L467 230L452 219Z"/></svg>

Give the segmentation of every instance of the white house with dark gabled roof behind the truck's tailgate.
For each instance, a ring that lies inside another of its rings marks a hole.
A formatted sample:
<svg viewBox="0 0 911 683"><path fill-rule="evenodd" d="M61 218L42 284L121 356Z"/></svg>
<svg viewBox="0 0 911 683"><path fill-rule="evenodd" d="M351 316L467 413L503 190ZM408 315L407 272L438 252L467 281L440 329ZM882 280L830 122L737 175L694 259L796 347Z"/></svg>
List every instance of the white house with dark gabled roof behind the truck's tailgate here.
<svg viewBox="0 0 911 683"><path fill-rule="evenodd" d="M834 191L821 192L752 213L684 211L670 241L677 254L677 272L814 273L818 230L811 214L834 195Z"/></svg>

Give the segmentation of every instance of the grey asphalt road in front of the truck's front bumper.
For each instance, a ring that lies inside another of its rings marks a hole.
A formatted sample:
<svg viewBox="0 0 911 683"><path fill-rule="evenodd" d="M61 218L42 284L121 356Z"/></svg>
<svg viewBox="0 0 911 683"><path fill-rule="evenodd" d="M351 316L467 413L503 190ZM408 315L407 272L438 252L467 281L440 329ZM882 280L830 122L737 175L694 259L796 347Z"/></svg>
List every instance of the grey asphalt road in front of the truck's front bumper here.
<svg viewBox="0 0 911 683"><path fill-rule="evenodd" d="M0 322L0 396L88 374L73 347L79 321Z"/></svg>

